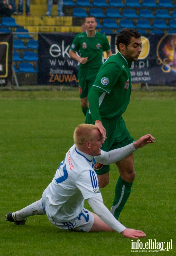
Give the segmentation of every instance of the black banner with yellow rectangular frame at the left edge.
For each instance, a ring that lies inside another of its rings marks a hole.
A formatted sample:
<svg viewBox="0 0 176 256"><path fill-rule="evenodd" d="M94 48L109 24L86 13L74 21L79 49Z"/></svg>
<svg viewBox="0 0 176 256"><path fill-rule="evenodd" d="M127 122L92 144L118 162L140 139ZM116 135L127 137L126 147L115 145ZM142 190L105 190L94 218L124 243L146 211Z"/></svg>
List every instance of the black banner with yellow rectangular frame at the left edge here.
<svg viewBox="0 0 176 256"><path fill-rule="evenodd" d="M0 85L6 85L12 81L12 34L0 34Z"/></svg>

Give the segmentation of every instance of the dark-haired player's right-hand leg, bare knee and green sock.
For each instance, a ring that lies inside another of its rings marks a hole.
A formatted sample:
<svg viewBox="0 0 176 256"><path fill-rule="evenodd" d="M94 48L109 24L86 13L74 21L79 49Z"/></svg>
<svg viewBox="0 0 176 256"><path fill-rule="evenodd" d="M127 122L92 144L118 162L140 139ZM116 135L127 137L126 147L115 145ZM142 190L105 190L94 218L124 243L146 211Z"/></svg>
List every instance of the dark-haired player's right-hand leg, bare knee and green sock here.
<svg viewBox="0 0 176 256"><path fill-rule="evenodd" d="M115 188L115 197L111 208L111 213L118 220L121 211L131 193L131 187L135 178L133 164L133 154L116 163L120 177Z"/></svg>

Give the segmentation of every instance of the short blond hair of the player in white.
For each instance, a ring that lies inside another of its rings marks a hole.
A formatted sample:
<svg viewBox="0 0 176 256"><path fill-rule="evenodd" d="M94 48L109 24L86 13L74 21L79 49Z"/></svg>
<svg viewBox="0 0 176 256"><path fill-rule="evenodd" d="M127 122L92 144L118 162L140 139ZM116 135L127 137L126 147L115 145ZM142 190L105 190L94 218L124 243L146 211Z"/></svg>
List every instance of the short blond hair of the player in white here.
<svg viewBox="0 0 176 256"><path fill-rule="evenodd" d="M94 130L97 130L96 125L82 123L75 128L73 139L76 146L82 146L85 141L93 141L95 135Z"/></svg>

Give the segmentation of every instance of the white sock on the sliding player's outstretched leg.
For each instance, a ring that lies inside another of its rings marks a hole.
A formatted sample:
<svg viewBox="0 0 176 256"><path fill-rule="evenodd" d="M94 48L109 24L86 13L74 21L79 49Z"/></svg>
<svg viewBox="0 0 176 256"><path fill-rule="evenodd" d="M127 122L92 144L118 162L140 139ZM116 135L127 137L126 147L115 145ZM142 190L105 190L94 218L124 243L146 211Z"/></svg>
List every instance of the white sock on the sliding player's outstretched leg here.
<svg viewBox="0 0 176 256"><path fill-rule="evenodd" d="M43 205L42 198L35 203L26 206L25 208L15 212L16 220L24 220L28 216L46 214L45 206Z"/></svg>

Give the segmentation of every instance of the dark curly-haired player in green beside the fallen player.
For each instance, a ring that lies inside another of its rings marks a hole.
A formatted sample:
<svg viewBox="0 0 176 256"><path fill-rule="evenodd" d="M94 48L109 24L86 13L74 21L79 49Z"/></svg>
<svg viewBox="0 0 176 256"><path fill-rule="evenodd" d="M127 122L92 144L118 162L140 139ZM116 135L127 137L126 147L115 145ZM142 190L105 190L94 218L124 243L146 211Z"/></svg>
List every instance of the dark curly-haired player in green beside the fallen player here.
<svg viewBox="0 0 176 256"><path fill-rule="evenodd" d="M141 44L139 32L135 29L123 29L116 36L119 52L104 62L88 94L89 112L86 115L86 123L95 123L99 128L105 141L102 145L104 151L120 148L134 141L121 115L129 104L130 67L132 61L136 61L141 53ZM116 162L116 165L120 177L116 184L111 212L118 219L135 178L133 154ZM109 166L97 163L95 171L99 187L105 187L109 183Z"/></svg>

